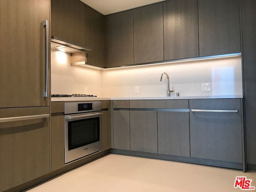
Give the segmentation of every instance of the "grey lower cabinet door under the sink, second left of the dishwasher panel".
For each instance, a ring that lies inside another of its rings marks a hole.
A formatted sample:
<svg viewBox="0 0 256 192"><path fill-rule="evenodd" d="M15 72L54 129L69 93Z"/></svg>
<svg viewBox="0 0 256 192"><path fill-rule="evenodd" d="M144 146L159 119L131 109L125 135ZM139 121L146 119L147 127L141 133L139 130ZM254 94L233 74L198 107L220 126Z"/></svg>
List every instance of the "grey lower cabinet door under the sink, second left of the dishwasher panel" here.
<svg viewBox="0 0 256 192"><path fill-rule="evenodd" d="M158 152L156 111L130 111L130 146L133 151Z"/></svg>

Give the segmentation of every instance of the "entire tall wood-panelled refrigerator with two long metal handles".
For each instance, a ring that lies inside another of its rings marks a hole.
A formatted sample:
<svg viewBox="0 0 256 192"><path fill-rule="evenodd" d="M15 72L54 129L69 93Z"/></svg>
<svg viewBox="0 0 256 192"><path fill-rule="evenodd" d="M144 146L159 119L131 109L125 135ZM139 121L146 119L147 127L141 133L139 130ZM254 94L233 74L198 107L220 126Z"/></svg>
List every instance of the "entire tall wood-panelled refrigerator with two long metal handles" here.
<svg viewBox="0 0 256 192"><path fill-rule="evenodd" d="M49 12L0 0L0 191L50 172Z"/></svg>

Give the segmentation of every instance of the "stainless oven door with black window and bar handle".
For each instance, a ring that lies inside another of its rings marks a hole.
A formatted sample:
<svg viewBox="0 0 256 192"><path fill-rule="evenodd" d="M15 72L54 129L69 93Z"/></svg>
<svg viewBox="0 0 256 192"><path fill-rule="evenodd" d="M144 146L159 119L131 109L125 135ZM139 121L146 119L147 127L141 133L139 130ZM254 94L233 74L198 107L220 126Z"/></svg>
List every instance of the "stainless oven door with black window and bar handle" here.
<svg viewBox="0 0 256 192"><path fill-rule="evenodd" d="M101 112L65 115L65 164L101 151Z"/></svg>

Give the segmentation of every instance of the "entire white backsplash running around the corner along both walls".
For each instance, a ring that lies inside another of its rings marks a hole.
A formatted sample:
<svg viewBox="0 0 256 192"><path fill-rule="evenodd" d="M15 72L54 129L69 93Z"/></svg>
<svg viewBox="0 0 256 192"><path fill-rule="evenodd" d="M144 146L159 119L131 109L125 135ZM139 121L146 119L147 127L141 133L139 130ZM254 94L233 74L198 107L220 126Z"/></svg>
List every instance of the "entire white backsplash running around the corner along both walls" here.
<svg viewBox="0 0 256 192"><path fill-rule="evenodd" d="M52 94L88 94L98 97L166 96L166 76L180 96L242 95L240 56L194 60L169 64L97 70L70 66L70 54L52 50ZM211 83L210 92L202 92L202 83ZM139 93L135 93L139 86Z"/></svg>

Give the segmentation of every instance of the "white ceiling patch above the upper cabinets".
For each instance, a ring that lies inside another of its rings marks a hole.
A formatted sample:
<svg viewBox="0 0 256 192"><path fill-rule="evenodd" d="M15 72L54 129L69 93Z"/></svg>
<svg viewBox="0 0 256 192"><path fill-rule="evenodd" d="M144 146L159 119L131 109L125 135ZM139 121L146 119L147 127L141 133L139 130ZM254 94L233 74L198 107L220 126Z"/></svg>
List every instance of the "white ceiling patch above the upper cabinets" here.
<svg viewBox="0 0 256 192"><path fill-rule="evenodd" d="M103 15L108 15L163 0L80 0Z"/></svg>

